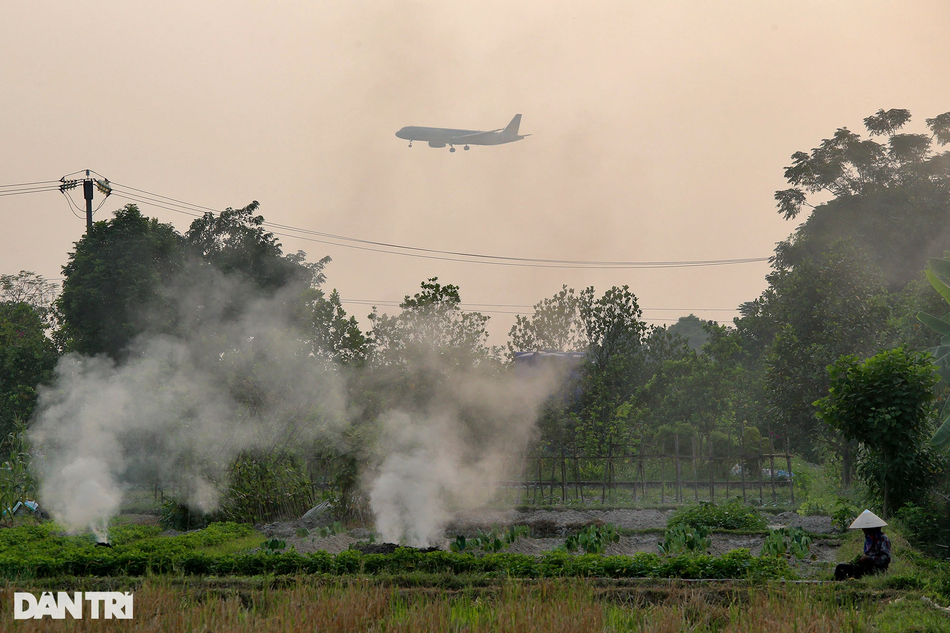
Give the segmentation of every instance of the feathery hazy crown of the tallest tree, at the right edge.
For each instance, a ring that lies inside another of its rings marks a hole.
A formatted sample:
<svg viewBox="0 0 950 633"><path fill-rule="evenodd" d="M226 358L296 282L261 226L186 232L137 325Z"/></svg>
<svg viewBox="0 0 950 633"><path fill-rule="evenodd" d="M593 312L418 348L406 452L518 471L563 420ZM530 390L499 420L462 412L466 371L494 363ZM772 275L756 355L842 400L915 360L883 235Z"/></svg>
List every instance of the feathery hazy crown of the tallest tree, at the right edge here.
<svg viewBox="0 0 950 633"><path fill-rule="evenodd" d="M907 110L879 110L864 119L872 138L843 127L810 153L791 156L785 177L792 188L775 193L779 213L812 212L776 249L780 268L848 238L881 268L888 288L900 289L927 257L940 255L950 222L950 154L932 145L950 142L950 112L925 121L930 134L901 133L910 119ZM812 207L807 195L819 192L832 199Z"/></svg>

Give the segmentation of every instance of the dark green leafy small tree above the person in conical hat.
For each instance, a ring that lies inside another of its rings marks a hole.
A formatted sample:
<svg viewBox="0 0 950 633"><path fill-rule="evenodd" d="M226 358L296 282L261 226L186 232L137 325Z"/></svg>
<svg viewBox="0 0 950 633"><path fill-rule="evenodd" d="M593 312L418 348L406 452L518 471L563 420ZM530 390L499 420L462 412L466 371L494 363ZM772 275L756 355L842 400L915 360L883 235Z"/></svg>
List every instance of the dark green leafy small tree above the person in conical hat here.
<svg viewBox="0 0 950 633"><path fill-rule="evenodd" d="M884 514L919 502L943 467L928 441L938 380L930 359L896 347L864 362L844 356L828 375L828 395L815 402L818 415L860 442L858 475Z"/></svg>

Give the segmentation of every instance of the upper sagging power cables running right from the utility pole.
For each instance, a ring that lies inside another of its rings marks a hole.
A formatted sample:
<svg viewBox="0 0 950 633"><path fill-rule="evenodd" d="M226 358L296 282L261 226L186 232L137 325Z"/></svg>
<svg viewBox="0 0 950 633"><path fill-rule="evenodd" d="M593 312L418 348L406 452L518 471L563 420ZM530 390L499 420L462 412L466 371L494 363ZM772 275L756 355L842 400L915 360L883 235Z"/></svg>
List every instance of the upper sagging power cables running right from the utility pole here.
<svg viewBox="0 0 950 633"><path fill-rule="evenodd" d="M123 185L121 183L111 183L111 184L113 187L114 195L120 195L121 197L132 200L134 202L141 202L142 204L148 204L148 205L159 207L161 209L166 209L168 211L174 211L180 214L187 214L187 215L192 215L195 217L199 217L204 212L211 212L211 213L218 213L218 214L220 213L220 211L216 209L212 209L211 207L203 207L201 205L191 204L189 202L184 202L177 198L172 198L166 195L153 194L143 189L137 189L135 187ZM132 190L138 193L132 193L131 191L123 191L125 189ZM749 257L749 258L699 260L699 261L609 262L609 261L542 259L542 258L533 258L533 257L512 257L512 256L503 256L503 255L487 255L484 253L471 253L471 252L462 252L462 251L440 251L437 249L423 249L423 248L410 247L410 246L405 246L405 245L400 245L400 244L392 244L388 242L376 242L373 240L366 240L366 239L361 239L357 237L348 237L346 235L322 233L318 231L312 231L310 229L301 229L299 227L294 227L291 225L279 224L276 222L265 221L263 224L267 227L283 229L284 231L292 231L295 233L318 235L318 236L327 237L333 240L355 242L357 244L369 244L372 246L384 247L386 249L400 249L403 251L416 251L416 252L387 251L387 250L374 249L368 246L356 246L355 244L341 244L339 243L339 241L328 241L324 239L316 239L314 237L306 237L304 235L298 235L298 234L293 234L293 233L280 233L278 231L271 232L276 235L280 235L282 237L292 237L295 239L302 239L302 240L306 240L310 242L316 242L319 244L326 244L329 246L357 249L361 251L384 252L384 253L389 253L389 254L419 257L419 258L424 258L424 259L437 259L437 260L442 260L442 261L458 261L458 262L467 262L467 263L476 263L476 264L519 266L519 267L526 267L526 268L593 269L593 270L693 268L693 267L705 267L705 266L725 266L725 265L730 265L730 264L746 264L746 263L762 262L762 261L769 260L769 257ZM422 253L438 253L438 254L427 255L427 254L422 254ZM447 257L444 255L457 255L458 257ZM465 257L466 259L460 259L459 257Z"/></svg>

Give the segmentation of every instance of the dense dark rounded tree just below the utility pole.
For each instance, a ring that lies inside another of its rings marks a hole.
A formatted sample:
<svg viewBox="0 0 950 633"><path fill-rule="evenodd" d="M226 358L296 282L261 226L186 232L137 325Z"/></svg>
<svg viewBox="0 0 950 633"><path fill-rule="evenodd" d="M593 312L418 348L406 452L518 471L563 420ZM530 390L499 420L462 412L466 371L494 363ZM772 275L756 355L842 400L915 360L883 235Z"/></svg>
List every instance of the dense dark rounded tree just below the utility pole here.
<svg viewBox="0 0 950 633"><path fill-rule="evenodd" d="M175 328L165 287L183 264L181 236L129 204L96 222L75 243L63 267L66 281L56 307L66 347L119 359L142 331Z"/></svg>

